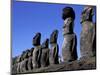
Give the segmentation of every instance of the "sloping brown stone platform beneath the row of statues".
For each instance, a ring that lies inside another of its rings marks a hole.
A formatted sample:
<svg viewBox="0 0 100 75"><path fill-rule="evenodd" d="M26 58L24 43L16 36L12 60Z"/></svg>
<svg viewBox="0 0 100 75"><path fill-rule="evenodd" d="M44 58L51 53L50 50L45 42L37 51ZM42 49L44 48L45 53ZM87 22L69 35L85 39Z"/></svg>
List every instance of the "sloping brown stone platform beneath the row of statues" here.
<svg viewBox="0 0 100 75"><path fill-rule="evenodd" d="M93 70L96 69L96 59L92 58L81 58L73 62L62 62L56 65L50 65L48 67L42 67L33 69L17 74L29 74L29 73L46 73L46 72L61 72L61 71L76 71L76 70Z"/></svg>

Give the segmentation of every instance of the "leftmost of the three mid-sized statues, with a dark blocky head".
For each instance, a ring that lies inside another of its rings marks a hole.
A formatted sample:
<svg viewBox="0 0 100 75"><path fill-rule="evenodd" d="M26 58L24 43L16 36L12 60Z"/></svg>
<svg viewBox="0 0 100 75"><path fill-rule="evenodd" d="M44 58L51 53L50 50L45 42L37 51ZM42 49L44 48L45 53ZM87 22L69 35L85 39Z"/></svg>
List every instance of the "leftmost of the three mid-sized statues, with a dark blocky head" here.
<svg viewBox="0 0 100 75"><path fill-rule="evenodd" d="M41 33L36 33L33 37L34 51L32 56L33 69L41 67L40 58L41 58L41 45L40 45Z"/></svg>

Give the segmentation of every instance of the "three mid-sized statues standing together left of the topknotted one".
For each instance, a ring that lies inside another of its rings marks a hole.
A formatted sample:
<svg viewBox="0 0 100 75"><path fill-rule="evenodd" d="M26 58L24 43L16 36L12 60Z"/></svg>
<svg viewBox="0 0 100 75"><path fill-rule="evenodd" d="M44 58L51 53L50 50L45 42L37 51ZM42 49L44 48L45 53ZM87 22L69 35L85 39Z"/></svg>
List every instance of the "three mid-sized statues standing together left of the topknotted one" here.
<svg viewBox="0 0 100 75"><path fill-rule="evenodd" d="M46 67L48 65L59 63L57 38L58 30L54 30L50 36L51 48L49 49L49 39L46 39L42 45L40 45L41 34L36 34L33 38L34 51L32 63L34 68Z"/></svg>

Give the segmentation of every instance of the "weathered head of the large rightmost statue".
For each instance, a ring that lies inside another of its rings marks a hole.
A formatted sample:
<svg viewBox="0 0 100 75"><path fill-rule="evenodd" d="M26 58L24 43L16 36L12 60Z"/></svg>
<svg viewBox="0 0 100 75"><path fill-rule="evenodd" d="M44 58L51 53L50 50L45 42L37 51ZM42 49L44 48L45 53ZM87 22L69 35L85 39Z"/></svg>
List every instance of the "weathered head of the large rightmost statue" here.
<svg viewBox="0 0 100 75"><path fill-rule="evenodd" d="M81 23L83 23L84 21L92 21L92 17L93 17L93 7L92 6L85 7L81 14Z"/></svg>

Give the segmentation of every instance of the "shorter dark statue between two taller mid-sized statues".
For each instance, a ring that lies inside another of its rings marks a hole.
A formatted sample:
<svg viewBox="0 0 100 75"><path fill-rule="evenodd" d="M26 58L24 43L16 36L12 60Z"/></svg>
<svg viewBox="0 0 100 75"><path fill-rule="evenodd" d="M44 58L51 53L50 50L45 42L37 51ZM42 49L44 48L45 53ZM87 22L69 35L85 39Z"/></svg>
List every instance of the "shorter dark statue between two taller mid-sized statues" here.
<svg viewBox="0 0 100 75"><path fill-rule="evenodd" d="M49 65L49 39L46 39L42 43L42 54L41 54L41 67L46 67Z"/></svg>

